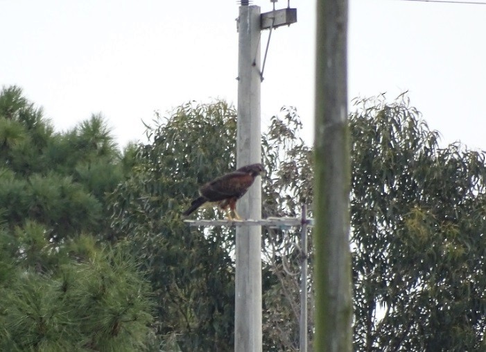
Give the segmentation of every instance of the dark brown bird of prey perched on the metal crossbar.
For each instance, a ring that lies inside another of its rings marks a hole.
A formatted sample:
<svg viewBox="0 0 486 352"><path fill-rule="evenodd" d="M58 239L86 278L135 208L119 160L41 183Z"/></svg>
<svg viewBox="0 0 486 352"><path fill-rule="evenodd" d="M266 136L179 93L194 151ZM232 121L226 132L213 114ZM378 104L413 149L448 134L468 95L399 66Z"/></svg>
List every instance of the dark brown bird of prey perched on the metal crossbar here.
<svg viewBox="0 0 486 352"><path fill-rule="evenodd" d="M201 206L219 206L226 211L227 219L241 220L236 212L236 201L248 191L257 176L263 176L265 171L261 164L246 165L229 172L211 182L202 185L199 189L200 196L191 202L191 206L182 215L187 216Z"/></svg>

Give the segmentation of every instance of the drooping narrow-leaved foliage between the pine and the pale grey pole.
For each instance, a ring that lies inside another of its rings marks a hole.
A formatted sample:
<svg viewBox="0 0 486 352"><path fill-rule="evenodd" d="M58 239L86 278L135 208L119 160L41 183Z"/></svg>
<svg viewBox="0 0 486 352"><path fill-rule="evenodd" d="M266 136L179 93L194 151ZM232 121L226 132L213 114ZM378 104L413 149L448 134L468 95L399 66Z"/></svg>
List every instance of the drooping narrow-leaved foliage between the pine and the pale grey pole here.
<svg viewBox="0 0 486 352"><path fill-rule="evenodd" d="M128 235L157 295L159 348L232 349L234 233L191 231L180 213L201 183L234 168L235 116L223 101L157 115L131 177L110 200L114 231Z"/></svg>

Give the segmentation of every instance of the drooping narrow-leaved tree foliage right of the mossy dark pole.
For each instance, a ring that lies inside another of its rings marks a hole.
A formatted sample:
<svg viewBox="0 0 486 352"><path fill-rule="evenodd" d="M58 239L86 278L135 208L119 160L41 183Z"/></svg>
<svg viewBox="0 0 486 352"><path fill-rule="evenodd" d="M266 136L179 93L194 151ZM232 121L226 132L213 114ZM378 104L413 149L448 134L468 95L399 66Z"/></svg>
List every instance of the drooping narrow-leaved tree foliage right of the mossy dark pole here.
<svg viewBox="0 0 486 352"><path fill-rule="evenodd" d="M351 116L355 346L483 351L486 154L440 148L402 98Z"/></svg>

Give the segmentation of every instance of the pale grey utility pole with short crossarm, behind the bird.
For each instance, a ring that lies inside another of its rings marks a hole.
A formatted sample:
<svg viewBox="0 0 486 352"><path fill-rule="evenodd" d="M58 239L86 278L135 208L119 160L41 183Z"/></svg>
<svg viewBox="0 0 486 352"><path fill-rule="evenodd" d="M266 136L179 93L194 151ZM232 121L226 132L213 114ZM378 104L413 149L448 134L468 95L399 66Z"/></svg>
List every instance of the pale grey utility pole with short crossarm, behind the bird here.
<svg viewBox="0 0 486 352"><path fill-rule="evenodd" d="M260 31L297 21L295 9L260 15L259 6L249 3L241 0L238 16L236 167L261 162ZM239 201L238 212L244 219L261 219L260 178ZM261 351L261 226L236 227L234 329L234 351Z"/></svg>

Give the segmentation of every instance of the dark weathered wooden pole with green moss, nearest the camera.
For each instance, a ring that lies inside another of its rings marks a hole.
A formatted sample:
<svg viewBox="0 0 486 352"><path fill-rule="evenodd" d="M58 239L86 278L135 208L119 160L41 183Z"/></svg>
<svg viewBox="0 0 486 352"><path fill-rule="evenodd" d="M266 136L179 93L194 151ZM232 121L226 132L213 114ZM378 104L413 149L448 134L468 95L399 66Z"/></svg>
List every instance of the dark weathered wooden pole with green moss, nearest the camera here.
<svg viewBox="0 0 486 352"><path fill-rule="evenodd" d="M347 0L317 2L314 351L352 351Z"/></svg>

